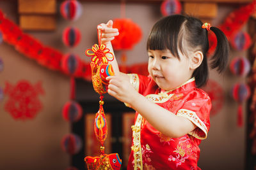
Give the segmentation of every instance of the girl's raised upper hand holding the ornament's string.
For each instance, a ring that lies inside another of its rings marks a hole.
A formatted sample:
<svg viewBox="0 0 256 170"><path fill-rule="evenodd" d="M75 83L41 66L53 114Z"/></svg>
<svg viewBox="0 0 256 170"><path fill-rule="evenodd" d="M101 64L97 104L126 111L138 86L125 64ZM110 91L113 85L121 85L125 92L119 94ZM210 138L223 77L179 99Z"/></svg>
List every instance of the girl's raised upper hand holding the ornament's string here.
<svg viewBox="0 0 256 170"><path fill-rule="evenodd" d="M101 43L104 45L107 45L115 39L115 36L119 35L118 29L113 29L113 21L109 20L107 24L100 24L97 27L101 32Z"/></svg>

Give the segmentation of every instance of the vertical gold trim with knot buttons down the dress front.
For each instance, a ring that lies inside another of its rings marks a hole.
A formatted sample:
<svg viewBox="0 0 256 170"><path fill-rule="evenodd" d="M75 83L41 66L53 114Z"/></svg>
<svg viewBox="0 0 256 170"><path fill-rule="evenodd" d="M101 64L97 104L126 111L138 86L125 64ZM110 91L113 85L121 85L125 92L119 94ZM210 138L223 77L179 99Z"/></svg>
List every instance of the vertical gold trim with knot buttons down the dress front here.
<svg viewBox="0 0 256 170"><path fill-rule="evenodd" d="M132 137L133 137L133 157L134 157L134 169L143 169L142 152L140 143L140 130L141 130L142 117L138 114L135 125L132 125Z"/></svg>

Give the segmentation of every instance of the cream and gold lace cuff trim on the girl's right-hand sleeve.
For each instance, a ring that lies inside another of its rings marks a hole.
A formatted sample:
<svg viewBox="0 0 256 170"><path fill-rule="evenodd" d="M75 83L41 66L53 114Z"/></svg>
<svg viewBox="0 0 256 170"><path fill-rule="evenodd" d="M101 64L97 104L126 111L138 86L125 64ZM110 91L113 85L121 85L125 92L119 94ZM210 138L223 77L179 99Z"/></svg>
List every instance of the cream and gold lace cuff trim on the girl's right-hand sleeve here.
<svg viewBox="0 0 256 170"><path fill-rule="evenodd" d="M194 131L189 132L188 134L198 139L207 138L207 127L204 124L204 122L202 122L202 120L200 120L200 118L196 115L195 111L181 109L177 112L177 116L188 118L191 122L193 122L193 124L195 124L205 133L205 136L204 137L198 136L198 134L195 132L196 129Z"/></svg>

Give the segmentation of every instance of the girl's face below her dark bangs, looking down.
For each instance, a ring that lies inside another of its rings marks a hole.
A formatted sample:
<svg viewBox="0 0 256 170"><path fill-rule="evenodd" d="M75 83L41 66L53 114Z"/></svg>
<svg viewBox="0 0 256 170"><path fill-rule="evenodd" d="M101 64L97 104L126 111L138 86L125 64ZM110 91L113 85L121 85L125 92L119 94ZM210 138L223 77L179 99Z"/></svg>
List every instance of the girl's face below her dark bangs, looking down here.
<svg viewBox="0 0 256 170"><path fill-rule="evenodd" d="M161 89L175 89L191 78L189 57L179 56L173 56L168 49L148 50L148 73Z"/></svg>

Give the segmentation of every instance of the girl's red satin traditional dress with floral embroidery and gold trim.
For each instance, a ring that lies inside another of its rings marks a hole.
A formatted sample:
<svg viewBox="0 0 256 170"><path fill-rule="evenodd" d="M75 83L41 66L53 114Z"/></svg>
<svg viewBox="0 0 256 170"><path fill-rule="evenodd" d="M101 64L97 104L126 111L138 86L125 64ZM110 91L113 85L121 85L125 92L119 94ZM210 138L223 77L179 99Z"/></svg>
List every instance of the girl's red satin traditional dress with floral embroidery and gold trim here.
<svg viewBox="0 0 256 170"><path fill-rule="evenodd" d="M200 169L197 162L202 139L210 128L211 99L195 87L191 78L176 89L159 89L150 76L129 74L134 88L148 100L188 118L197 127L180 138L169 138L157 131L136 112L132 126L132 152L127 169ZM172 114L170 113L170 114ZM156 113L157 116L157 113Z"/></svg>

